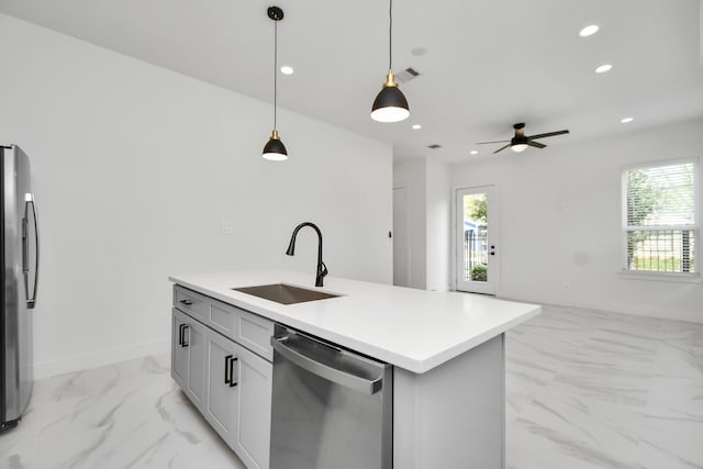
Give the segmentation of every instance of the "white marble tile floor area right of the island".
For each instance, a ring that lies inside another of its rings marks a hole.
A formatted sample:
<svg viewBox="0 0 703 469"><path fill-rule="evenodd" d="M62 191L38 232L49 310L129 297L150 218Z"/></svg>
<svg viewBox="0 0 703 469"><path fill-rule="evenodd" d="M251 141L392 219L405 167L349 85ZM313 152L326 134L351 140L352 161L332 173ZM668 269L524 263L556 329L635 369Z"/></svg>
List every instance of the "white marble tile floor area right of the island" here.
<svg viewBox="0 0 703 469"><path fill-rule="evenodd" d="M545 306L506 340L509 469L703 468L703 325Z"/></svg>

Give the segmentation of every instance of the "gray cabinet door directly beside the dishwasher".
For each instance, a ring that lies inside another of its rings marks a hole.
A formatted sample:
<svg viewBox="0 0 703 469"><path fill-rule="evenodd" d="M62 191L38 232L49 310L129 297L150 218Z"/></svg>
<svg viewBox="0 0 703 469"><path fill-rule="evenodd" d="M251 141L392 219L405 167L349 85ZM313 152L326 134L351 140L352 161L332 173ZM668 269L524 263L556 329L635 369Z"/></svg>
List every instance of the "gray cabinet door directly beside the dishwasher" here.
<svg viewBox="0 0 703 469"><path fill-rule="evenodd" d="M239 428L233 447L247 468L268 469L274 366L239 345L236 348Z"/></svg>

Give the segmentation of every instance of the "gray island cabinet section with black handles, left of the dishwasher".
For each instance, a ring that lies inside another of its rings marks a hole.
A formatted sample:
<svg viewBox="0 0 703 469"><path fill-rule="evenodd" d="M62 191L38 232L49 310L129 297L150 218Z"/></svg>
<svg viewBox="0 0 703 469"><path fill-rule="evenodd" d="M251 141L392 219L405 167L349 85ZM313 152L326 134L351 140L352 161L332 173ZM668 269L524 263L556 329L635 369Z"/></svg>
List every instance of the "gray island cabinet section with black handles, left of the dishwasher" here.
<svg viewBox="0 0 703 469"><path fill-rule="evenodd" d="M274 323L175 286L171 377L249 469L268 469Z"/></svg>

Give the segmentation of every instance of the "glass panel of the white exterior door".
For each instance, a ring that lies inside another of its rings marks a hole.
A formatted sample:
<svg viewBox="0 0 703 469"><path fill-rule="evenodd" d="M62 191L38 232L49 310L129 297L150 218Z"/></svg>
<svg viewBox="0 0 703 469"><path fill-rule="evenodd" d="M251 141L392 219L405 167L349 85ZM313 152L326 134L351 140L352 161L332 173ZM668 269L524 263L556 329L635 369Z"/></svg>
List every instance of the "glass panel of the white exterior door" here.
<svg viewBox="0 0 703 469"><path fill-rule="evenodd" d="M488 281L488 201L486 193L464 196L464 281Z"/></svg>

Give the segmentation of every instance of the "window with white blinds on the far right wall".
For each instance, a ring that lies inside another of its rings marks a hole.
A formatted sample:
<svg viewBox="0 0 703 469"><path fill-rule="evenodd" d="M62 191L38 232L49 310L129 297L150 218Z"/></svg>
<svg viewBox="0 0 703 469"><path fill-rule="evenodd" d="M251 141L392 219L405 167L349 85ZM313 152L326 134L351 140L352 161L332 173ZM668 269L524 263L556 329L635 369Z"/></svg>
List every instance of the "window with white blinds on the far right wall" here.
<svg viewBox="0 0 703 469"><path fill-rule="evenodd" d="M696 167L679 160L623 171L626 271L698 275Z"/></svg>

